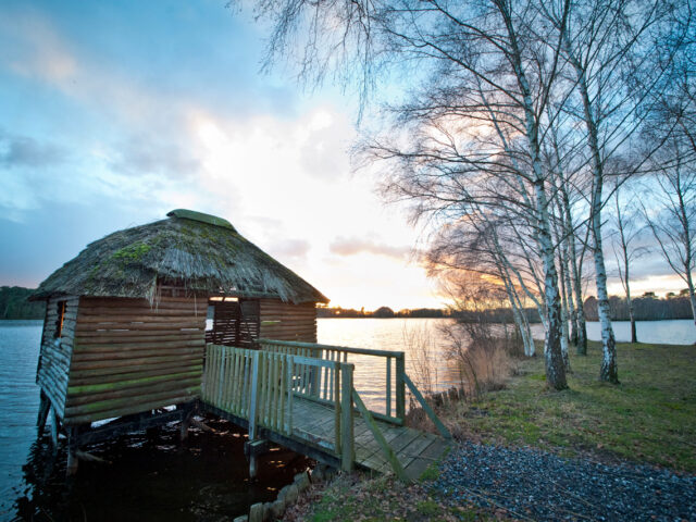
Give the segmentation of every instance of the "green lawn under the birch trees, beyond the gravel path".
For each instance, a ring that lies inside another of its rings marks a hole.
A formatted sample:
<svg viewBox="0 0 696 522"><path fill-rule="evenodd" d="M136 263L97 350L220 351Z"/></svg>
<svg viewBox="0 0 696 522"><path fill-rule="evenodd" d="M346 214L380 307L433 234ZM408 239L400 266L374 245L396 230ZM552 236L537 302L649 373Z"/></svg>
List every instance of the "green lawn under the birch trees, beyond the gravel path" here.
<svg viewBox="0 0 696 522"><path fill-rule="evenodd" d="M696 347L618 344L619 380L598 380L601 345L571 353L570 389L546 387L544 359L521 362L506 389L438 412L462 438L568 456L696 471Z"/></svg>

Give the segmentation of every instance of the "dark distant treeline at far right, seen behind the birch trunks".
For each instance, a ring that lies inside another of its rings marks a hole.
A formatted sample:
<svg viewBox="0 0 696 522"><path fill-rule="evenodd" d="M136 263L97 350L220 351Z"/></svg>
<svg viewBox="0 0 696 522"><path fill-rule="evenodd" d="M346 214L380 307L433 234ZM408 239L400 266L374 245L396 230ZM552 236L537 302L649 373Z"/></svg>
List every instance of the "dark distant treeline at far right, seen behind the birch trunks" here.
<svg viewBox="0 0 696 522"><path fill-rule="evenodd" d="M692 319L692 304L688 297L673 296L660 299L654 295L644 295L632 299L633 315L636 321L659 321L661 319ZM629 321L629 304L624 298L611 296L611 319L613 321ZM597 299L585 299L585 315L587 321L598 321Z"/></svg>

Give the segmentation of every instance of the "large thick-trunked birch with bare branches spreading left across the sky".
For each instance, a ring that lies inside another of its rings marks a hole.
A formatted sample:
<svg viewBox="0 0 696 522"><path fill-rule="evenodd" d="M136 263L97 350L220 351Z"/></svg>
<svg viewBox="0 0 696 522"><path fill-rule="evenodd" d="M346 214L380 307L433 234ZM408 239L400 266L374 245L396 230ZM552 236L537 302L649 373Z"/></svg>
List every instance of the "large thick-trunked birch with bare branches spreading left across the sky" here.
<svg viewBox="0 0 696 522"><path fill-rule="evenodd" d="M561 25L568 8L569 1L549 8ZM259 9L275 27L271 53L286 53L299 38L309 76L337 66L366 86L364 94L381 67L413 71L420 87L389 108L388 132L365 140L363 158L385 165L388 192L411 201L415 216L457 219L473 201L507 206L529 223L543 264L547 383L566 388L550 186L540 154L561 39L539 23L535 4L268 0ZM507 149L496 125L509 137Z"/></svg>

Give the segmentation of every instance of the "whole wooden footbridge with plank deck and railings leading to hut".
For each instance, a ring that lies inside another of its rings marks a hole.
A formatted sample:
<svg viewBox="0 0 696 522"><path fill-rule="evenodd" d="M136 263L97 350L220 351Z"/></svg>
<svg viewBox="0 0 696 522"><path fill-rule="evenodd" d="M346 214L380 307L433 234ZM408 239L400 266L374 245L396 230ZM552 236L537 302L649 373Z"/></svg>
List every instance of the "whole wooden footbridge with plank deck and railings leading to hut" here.
<svg viewBox="0 0 696 522"><path fill-rule="evenodd" d="M369 410L353 388L353 355L385 364L382 411ZM254 447L270 440L344 470L415 480L447 451L450 435L403 368L403 352L265 339L259 350L208 345L201 398L249 430L252 474ZM439 436L403 425L407 387Z"/></svg>

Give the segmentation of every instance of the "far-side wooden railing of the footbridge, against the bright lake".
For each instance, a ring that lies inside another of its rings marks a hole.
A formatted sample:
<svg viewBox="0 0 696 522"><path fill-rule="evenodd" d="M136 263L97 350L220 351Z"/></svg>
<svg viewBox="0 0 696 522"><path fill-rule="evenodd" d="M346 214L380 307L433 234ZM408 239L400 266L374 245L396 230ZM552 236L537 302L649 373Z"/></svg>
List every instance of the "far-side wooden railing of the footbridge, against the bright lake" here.
<svg viewBox="0 0 696 522"><path fill-rule="evenodd" d="M364 362L365 365L375 364L385 368L385 387L384 394L381 394L384 397L384 409L381 409L381 411L370 409L369 411L382 421L398 425L403 424L406 418L406 381L403 380L406 365L402 351L371 350L366 348L349 348L345 346L316 345L313 343L275 339L257 339L257 344L261 350L311 357L325 361L349 362L349 359L353 359L351 356L374 358L368 361L362 359L361 362ZM314 375L313 377L318 378L319 383L326 383L327 380L331 380L331 375L327 377ZM322 398L319 395L322 391L321 386L310 387L309 389L311 397Z"/></svg>

